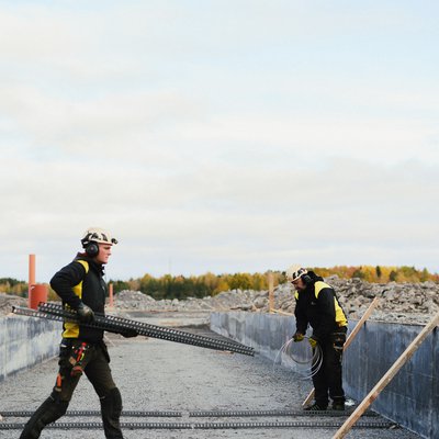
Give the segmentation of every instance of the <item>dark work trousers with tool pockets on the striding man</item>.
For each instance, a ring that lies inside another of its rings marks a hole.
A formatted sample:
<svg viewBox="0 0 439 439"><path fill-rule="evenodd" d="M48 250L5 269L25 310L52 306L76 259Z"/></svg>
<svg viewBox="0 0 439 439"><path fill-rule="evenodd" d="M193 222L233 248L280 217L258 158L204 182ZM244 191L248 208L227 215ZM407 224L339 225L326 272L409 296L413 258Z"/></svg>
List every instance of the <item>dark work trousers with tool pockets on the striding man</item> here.
<svg viewBox="0 0 439 439"><path fill-rule="evenodd" d="M47 424L65 415L81 378L81 374L72 374L75 365L83 370L99 396L105 438L123 439L120 427L122 397L111 374L106 346L103 341L87 346L85 344L85 349L81 351L81 345L82 342L77 339L63 339L55 386L50 396L32 415L20 439L40 438ZM77 363L75 360L78 360Z"/></svg>

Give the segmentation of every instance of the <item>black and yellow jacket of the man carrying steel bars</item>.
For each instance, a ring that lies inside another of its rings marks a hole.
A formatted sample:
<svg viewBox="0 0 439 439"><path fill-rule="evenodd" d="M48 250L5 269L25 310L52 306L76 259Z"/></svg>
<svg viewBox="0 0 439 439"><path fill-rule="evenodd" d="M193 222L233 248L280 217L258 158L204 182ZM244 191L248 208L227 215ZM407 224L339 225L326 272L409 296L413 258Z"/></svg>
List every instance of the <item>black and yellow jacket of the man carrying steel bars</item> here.
<svg viewBox="0 0 439 439"><path fill-rule="evenodd" d="M66 308L77 309L82 302L97 313L104 313L106 283L103 267L86 255L78 254L68 266L61 268L50 280L50 286L63 300ZM78 338L99 342L103 330L74 323L64 323L64 338Z"/></svg>

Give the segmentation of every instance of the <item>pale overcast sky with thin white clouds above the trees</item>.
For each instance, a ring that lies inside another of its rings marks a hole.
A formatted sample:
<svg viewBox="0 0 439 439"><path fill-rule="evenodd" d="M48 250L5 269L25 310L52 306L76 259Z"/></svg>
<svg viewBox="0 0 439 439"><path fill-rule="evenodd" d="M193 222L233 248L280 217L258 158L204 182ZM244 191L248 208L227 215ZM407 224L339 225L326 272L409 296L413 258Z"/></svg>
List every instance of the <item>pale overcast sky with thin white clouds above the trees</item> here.
<svg viewBox="0 0 439 439"><path fill-rule="evenodd" d="M0 0L0 277L439 271L439 3Z"/></svg>

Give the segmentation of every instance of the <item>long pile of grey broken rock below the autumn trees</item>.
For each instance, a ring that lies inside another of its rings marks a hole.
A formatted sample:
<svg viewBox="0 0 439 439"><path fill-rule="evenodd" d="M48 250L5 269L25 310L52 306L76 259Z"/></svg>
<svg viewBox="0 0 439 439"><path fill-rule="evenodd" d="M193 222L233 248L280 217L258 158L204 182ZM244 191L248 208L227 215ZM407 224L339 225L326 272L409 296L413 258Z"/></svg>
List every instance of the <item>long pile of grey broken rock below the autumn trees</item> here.
<svg viewBox="0 0 439 439"><path fill-rule="evenodd" d="M373 297L381 301L370 319L407 324L426 324L439 311L439 284L424 283L368 283L360 279L326 279L337 292L340 304L350 318L360 318ZM294 313L294 294L291 284L280 284L274 289L274 309ZM269 312L269 292L232 290L213 297L184 301L155 301L139 291L122 291L115 296L115 308L137 311L249 311Z"/></svg>

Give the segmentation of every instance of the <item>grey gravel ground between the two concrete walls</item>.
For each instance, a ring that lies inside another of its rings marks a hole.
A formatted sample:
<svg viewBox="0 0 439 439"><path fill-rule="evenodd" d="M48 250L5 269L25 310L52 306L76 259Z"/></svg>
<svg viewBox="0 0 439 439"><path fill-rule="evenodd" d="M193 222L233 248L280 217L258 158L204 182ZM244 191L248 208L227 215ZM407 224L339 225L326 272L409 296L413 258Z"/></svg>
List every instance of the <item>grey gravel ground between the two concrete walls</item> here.
<svg viewBox="0 0 439 439"><path fill-rule="evenodd" d="M169 325L171 316L148 323ZM192 318L192 316L190 316ZM180 322L181 323L181 322ZM193 324L193 322L191 322ZM182 328L202 335L217 337L205 328ZM125 410L178 410L181 418L122 418L122 421L155 423L261 423L261 421L334 421L341 426L346 416L337 418L304 417L189 417L193 410L300 410L302 401L312 389L311 381L260 356L247 357L227 353L190 345L137 337L125 339L108 335L114 379L122 392ZM49 394L57 371L55 359L20 372L0 383L0 414L5 410L34 410ZM98 410L98 398L87 379L82 379L74 394L70 410ZM24 423L27 418L3 418L3 423ZM371 418L368 418L371 419ZM361 418L360 420L368 420ZM373 418L375 419L375 418ZM378 418L383 420L382 418ZM91 421L98 418L64 417L60 421ZM330 438L337 428L252 428L171 430L147 429L124 430L126 439L223 439L223 438L268 438L299 439ZM20 430L0 430L0 439L18 438ZM100 439L101 429L58 430L46 429L42 439ZM347 438L417 439L402 428L361 429L353 428Z"/></svg>

